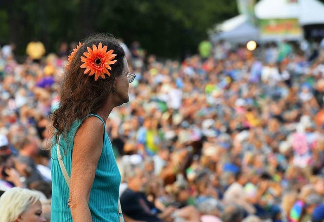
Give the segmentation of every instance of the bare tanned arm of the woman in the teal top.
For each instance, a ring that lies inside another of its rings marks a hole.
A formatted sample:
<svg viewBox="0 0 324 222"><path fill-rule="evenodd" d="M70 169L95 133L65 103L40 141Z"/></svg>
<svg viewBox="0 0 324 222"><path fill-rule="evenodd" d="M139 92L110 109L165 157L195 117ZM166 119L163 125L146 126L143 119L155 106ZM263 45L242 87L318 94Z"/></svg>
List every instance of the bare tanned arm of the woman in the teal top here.
<svg viewBox="0 0 324 222"><path fill-rule="evenodd" d="M69 207L73 221L92 221L89 196L102 152L104 127L97 117L89 117L74 137Z"/></svg>

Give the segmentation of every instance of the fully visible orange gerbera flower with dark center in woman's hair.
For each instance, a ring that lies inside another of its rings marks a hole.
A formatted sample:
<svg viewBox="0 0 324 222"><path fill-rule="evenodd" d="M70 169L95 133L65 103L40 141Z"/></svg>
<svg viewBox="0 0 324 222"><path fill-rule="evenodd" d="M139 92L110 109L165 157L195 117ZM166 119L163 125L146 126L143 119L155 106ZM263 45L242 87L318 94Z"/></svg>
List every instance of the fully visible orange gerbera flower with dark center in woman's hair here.
<svg viewBox="0 0 324 222"><path fill-rule="evenodd" d="M109 65L115 64L117 60L113 60L116 54L112 54L113 50L107 51L107 46L102 48L101 42L98 48L92 45L92 50L88 47L88 52L84 53L86 57L81 57L81 61L84 62L80 65L80 68L86 68L85 74L93 75L95 74L95 81L98 80L99 76L105 78L105 74L110 76L111 67Z"/></svg>

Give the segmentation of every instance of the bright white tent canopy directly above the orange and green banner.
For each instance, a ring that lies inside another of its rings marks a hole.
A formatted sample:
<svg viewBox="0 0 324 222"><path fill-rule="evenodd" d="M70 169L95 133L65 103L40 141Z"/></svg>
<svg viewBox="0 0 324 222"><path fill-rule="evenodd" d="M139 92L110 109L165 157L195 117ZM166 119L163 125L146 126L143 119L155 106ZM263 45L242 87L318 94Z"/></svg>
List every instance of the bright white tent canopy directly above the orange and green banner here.
<svg viewBox="0 0 324 222"><path fill-rule="evenodd" d="M308 3L310 0L305 1ZM290 19L299 16L299 5L287 0L262 0L254 9L259 19Z"/></svg>

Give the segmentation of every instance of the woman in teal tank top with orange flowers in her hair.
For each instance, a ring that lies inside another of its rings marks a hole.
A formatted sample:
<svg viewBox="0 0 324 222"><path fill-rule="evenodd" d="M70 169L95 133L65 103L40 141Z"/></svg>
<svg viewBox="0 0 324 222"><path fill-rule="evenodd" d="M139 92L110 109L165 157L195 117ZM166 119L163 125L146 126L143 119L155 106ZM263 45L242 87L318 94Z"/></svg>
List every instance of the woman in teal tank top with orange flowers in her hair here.
<svg viewBox="0 0 324 222"><path fill-rule="evenodd" d="M114 107L129 101L134 78L111 36L91 36L69 56L52 116L52 222L123 221L120 173L105 122Z"/></svg>

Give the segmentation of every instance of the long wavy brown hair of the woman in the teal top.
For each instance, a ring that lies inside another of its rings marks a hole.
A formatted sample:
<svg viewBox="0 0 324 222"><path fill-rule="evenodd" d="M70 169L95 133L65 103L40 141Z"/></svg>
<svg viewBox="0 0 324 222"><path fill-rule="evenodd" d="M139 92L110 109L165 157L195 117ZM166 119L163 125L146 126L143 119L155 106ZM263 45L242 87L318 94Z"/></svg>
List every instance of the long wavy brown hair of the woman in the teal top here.
<svg viewBox="0 0 324 222"><path fill-rule="evenodd" d="M108 46L107 51L113 50L117 62L110 65L111 75L109 77L95 81L94 75L84 74L85 69L80 68L82 65L80 57L87 52L87 47L92 48L93 45L98 47L100 42L103 46ZM69 68L64 72L59 91L59 108L51 115L56 129L52 132L56 143L59 143L59 135L67 138L74 121L84 121L88 115L96 113L103 106L108 95L113 91L114 78L123 72L124 57L124 49L118 39L112 35L93 34L85 39L84 45L78 49ZM64 150L65 153L66 150Z"/></svg>

